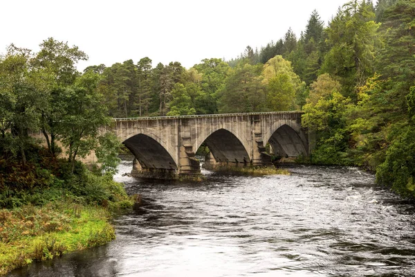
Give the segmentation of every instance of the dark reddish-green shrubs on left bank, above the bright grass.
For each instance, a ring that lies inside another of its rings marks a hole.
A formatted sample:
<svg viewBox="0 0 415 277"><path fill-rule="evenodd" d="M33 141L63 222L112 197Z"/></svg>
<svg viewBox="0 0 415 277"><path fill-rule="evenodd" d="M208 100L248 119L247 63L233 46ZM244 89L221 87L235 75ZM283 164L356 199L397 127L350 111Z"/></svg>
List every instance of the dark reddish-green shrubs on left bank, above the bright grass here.
<svg viewBox="0 0 415 277"><path fill-rule="evenodd" d="M56 159L39 147L33 146L28 153L26 165L0 157L1 208L44 205L67 198L111 208L129 202L122 185L112 180L111 170L103 176L101 172L93 175L82 163L76 162L72 168L64 159Z"/></svg>

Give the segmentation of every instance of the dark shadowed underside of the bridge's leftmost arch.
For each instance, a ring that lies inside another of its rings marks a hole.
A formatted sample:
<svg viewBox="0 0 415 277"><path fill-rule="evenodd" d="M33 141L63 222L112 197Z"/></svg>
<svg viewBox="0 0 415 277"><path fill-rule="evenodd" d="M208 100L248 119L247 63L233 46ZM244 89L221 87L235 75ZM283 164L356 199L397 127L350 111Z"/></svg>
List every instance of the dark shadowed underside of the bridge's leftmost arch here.
<svg viewBox="0 0 415 277"><path fill-rule="evenodd" d="M126 139L123 144L136 157L142 168L178 169L172 155L150 136L136 134Z"/></svg>

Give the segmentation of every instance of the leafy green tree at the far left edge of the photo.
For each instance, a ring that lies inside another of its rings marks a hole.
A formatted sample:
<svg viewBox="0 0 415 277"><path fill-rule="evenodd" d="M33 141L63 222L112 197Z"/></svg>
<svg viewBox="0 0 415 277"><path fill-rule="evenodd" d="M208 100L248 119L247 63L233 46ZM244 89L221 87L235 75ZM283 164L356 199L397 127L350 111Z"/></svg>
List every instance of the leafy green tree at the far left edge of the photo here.
<svg viewBox="0 0 415 277"><path fill-rule="evenodd" d="M24 165L28 145L33 143L28 132L39 128L39 109L47 105L43 92L50 76L30 70L30 55L27 49L11 45L0 58L0 149L14 156L19 153Z"/></svg>

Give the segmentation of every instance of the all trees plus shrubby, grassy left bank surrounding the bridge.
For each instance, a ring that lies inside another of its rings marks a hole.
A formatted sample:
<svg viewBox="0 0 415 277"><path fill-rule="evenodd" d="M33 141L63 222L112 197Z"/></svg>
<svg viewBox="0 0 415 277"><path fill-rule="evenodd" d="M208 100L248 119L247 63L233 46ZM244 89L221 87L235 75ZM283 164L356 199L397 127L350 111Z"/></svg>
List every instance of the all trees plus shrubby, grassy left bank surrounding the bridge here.
<svg viewBox="0 0 415 277"><path fill-rule="evenodd" d="M0 56L1 258L9 257L1 271L73 250L62 235L82 224L91 224L91 240L71 237L80 248L112 238L102 209L131 201L111 179L119 142L98 133L111 117L302 110L317 134L308 162L373 170L378 184L413 199L414 18L413 0L354 0L327 26L315 10L299 37L290 28L259 50L190 69L143 57L81 73L75 65L88 56L77 46L48 38L33 53L10 45ZM39 130L46 148L29 135ZM100 167L89 170L77 159L92 150ZM31 250L21 248L26 240Z"/></svg>

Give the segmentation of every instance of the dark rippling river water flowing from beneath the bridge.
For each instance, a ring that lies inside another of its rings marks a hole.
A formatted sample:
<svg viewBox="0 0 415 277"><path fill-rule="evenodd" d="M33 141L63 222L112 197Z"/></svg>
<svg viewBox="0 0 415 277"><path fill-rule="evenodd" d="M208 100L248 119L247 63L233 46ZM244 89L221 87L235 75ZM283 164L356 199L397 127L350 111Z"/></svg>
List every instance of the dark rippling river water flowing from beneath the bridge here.
<svg viewBox="0 0 415 277"><path fill-rule="evenodd" d="M10 276L415 276L415 209L356 168L204 171L199 183L115 179L142 204L95 249Z"/></svg>

